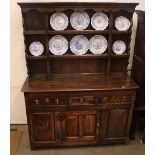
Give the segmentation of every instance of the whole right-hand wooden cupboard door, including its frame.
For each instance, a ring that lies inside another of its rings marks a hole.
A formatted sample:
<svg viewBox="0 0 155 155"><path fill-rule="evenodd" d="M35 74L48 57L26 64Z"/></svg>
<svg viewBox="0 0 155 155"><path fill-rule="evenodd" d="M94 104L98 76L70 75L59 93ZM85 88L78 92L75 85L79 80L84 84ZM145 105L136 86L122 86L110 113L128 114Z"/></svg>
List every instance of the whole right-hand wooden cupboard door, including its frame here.
<svg viewBox="0 0 155 155"><path fill-rule="evenodd" d="M128 113L128 109L102 110L100 138L103 141L125 140Z"/></svg>

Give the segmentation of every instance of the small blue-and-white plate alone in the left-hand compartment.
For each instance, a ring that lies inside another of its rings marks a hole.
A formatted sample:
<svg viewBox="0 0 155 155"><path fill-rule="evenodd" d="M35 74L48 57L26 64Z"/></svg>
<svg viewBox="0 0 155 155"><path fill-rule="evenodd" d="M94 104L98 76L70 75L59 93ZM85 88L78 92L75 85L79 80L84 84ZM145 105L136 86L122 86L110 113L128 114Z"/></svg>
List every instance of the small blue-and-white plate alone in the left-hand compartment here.
<svg viewBox="0 0 155 155"><path fill-rule="evenodd" d="M39 41L35 41L30 44L29 51L34 56L40 56L44 52L44 46Z"/></svg>

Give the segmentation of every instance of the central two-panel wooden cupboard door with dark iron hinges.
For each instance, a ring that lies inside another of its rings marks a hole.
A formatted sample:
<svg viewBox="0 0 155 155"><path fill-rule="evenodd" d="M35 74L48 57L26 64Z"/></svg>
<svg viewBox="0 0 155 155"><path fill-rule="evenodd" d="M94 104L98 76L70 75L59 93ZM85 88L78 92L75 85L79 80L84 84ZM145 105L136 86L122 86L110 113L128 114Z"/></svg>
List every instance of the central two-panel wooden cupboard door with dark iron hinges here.
<svg viewBox="0 0 155 155"><path fill-rule="evenodd" d="M96 143L99 126L96 111L57 113L61 121L60 138L65 145L86 145Z"/></svg>

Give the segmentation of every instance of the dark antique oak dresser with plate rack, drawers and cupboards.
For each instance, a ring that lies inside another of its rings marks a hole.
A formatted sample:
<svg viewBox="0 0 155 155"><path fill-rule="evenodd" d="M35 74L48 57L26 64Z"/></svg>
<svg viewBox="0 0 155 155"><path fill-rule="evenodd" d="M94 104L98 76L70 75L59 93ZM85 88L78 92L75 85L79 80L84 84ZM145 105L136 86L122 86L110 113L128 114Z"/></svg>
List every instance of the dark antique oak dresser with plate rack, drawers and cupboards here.
<svg viewBox="0 0 155 155"><path fill-rule="evenodd" d="M127 76L130 56L132 16L137 3L18 3L23 17L23 35L28 77L22 87L31 149L127 143L137 84ZM63 12L96 12L108 16L105 30L95 30L91 23L85 30L75 30L70 22L65 30L51 28L50 17ZM118 16L129 19L127 31L118 31ZM75 55L68 48L63 55L49 51L49 40L64 36L68 42L76 35L88 39L103 35L108 48L103 54ZM116 40L126 44L123 54L112 51ZM40 56L29 51L32 42L44 47Z"/></svg>

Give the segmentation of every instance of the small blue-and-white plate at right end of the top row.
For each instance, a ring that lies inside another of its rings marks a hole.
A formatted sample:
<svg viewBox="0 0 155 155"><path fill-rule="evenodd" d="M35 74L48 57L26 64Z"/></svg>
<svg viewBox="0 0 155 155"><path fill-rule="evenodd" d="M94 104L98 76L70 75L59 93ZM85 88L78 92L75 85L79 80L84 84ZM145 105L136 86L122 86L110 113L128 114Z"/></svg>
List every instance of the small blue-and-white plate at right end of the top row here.
<svg viewBox="0 0 155 155"><path fill-rule="evenodd" d="M127 31L130 27L130 21L123 16L119 16L115 20L115 27L119 31Z"/></svg>

